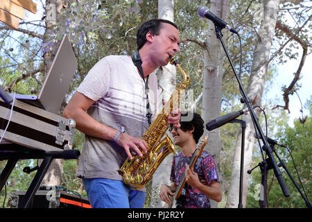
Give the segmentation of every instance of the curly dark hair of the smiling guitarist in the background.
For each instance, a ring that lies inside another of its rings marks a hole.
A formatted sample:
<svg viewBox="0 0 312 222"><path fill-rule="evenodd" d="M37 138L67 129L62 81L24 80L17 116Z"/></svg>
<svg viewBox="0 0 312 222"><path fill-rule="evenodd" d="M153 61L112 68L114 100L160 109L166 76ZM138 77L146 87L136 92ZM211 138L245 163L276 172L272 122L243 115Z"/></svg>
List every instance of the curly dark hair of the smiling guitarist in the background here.
<svg viewBox="0 0 312 222"><path fill-rule="evenodd" d="M186 132L187 130L193 130L193 138L196 142L196 144L198 143L200 137L202 136L202 134L204 133L204 120L202 119L202 117L200 117L200 114L196 113L196 112L186 112L186 113L182 113L181 114L181 119L183 119L182 117L192 117L193 119L191 119L191 121L181 121L180 120L180 129L183 130L184 132ZM170 127L173 127L173 124L170 125Z"/></svg>

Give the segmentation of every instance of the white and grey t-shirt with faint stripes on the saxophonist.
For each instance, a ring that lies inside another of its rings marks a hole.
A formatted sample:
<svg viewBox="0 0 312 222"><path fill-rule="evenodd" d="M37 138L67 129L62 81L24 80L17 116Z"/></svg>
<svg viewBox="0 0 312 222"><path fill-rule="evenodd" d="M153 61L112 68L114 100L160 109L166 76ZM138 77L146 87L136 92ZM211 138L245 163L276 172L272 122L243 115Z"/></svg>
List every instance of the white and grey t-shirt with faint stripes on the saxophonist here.
<svg viewBox="0 0 312 222"><path fill-rule="evenodd" d="M157 101L157 77L149 75L148 99L154 115ZM129 56L107 56L90 69L77 89L95 101L87 112L100 123L140 138L148 129L145 83ZM155 92L155 93L154 93ZM154 116L155 118L155 116ZM121 180L117 172L127 155L111 141L85 135L76 176Z"/></svg>

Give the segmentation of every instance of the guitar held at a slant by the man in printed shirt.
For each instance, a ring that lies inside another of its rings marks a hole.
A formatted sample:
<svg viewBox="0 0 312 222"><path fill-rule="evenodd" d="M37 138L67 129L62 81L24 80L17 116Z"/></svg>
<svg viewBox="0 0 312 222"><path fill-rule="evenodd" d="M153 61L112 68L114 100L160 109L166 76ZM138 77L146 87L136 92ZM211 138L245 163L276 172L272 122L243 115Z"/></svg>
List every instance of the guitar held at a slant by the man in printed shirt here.
<svg viewBox="0 0 312 222"><path fill-rule="evenodd" d="M194 153L191 157L191 161L189 162L189 168L190 169L196 163L197 158L202 154L202 151L203 151L206 144L207 144L207 136L200 139L200 142L197 144L196 150L194 151ZM184 171L182 178L180 180L180 183L179 183L179 185L177 185L177 189L175 189L175 195L173 195L173 197L171 198L171 203L170 203L170 205L168 205L168 208L176 208L176 202L177 202L176 200L177 200L177 198L180 198L180 196L182 194L183 187L184 187L185 182L186 182L185 180L186 180L186 176L185 176L185 171Z"/></svg>

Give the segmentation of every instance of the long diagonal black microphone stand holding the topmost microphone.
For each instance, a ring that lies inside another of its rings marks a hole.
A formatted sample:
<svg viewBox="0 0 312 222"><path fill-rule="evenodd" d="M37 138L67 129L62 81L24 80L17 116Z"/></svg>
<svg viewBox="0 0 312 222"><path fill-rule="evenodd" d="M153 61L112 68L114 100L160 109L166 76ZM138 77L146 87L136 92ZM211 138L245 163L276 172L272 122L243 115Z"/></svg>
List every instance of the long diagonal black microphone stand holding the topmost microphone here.
<svg viewBox="0 0 312 222"><path fill-rule="evenodd" d="M250 99L248 99L247 94L245 93L245 90L243 89L243 85L241 84L241 80L239 79L239 76L236 73L236 70L234 68L234 65L232 63L231 58L229 57L229 53L227 51L227 48L225 46L225 43L223 42L223 34L221 33L222 28L220 28L219 26L215 25L215 29L216 29L216 37L220 40L223 49L227 55L227 59L229 60L229 64L231 65L233 71L234 71L234 75L236 77L236 80L239 83L239 89L241 91L241 95L243 96L243 102L247 105L248 110L250 112L250 117L254 123L254 126L256 127L255 130L257 130L259 132L259 135L263 141L264 146L266 146L266 154L268 155L268 159L270 160L270 162L272 162L272 168L274 170L275 176L277 177L277 180L279 182L279 186L281 187L281 191L283 191L284 196L288 197L289 196L289 191L286 187L285 181L283 179L283 176L281 175L281 171L279 170L279 167L277 167L277 163L274 159L273 153L272 153L272 148L270 148L268 141L266 139L266 137L263 134L263 131L261 129L260 123L257 119L256 114L254 113L254 109L252 108L252 104L250 103ZM257 132L256 132L257 133ZM261 147L260 147L261 148ZM263 186L264 187L264 186Z"/></svg>

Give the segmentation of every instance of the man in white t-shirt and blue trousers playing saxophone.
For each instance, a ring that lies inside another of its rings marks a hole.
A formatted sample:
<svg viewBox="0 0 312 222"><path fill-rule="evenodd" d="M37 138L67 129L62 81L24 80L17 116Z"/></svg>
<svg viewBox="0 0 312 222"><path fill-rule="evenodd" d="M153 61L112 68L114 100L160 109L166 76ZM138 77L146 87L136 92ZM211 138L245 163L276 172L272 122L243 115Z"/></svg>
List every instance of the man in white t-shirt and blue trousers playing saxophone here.
<svg viewBox="0 0 312 222"><path fill-rule="evenodd" d="M179 41L172 22L145 22L137 32L141 72L130 56L106 56L90 69L65 108L63 116L74 119L85 134L76 176L83 179L92 207L144 206L144 189L126 187L118 170L133 152L141 156L148 149L139 138L149 126L147 114L155 112L146 108L157 95L153 71L168 64L168 58L179 51ZM148 98L147 88L154 98ZM180 110L171 112L167 123L179 127Z"/></svg>

